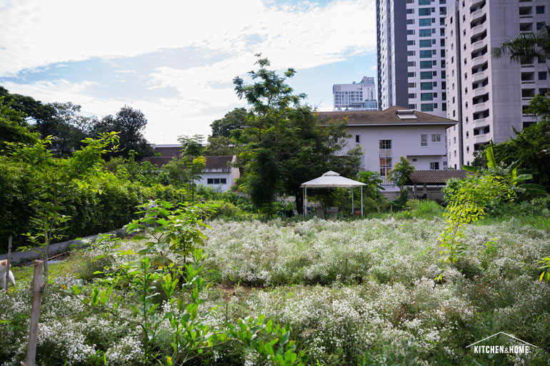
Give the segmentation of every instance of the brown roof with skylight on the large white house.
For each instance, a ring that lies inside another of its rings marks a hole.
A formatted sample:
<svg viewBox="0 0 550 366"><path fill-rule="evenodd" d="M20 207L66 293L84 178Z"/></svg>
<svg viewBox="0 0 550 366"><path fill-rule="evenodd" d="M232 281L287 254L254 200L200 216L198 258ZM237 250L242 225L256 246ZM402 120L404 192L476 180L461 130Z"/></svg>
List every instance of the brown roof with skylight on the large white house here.
<svg viewBox="0 0 550 366"><path fill-rule="evenodd" d="M319 122L347 119L348 126L409 126L409 125L444 125L452 127L458 123L449 118L434 114L412 111L400 106L393 106L384 111L335 111L319 112Z"/></svg>

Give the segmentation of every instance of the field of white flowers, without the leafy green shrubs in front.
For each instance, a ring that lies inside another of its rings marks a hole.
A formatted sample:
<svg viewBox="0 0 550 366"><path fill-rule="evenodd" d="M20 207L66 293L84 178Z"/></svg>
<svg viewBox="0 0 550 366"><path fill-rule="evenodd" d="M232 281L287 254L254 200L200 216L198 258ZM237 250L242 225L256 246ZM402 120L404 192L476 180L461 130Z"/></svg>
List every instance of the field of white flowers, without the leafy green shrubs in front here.
<svg viewBox="0 0 550 366"><path fill-rule="evenodd" d="M264 314L289 325L311 365L550 364L550 284L539 282L537 264L550 253L550 228L513 218L469 225L469 248L451 266L439 261L440 218L209 225L203 272L211 285L201 295L201 317L212 326ZM140 245L125 241L121 250ZM64 292L76 278L93 283L94 270L121 264L105 258L91 263L96 254L83 253L74 275L46 287L40 365L139 365L135 325L87 310ZM0 294L2 366L19 365L24 357L29 286L20 282L9 295ZM466 348L501 331L538 348L494 358ZM159 352L170 348L162 332L156 342ZM104 357L94 356L98 350ZM215 364L255 361L221 346L193 365Z"/></svg>

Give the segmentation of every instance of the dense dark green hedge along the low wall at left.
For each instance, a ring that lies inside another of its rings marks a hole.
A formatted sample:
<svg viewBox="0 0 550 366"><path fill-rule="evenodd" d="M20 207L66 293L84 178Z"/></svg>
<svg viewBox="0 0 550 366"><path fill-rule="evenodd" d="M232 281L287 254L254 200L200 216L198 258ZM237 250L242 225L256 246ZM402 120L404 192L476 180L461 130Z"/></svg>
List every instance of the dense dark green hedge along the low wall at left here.
<svg viewBox="0 0 550 366"><path fill-rule="evenodd" d="M0 253L8 250L11 235L13 248L29 245L22 233L32 230L30 218L35 214L30 203L39 198L44 188L38 178L31 175L25 166L10 162L0 156ZM66 202L66 215L71 216L64 231L66 238L79 238L121 228L136 218L137 206L148 195L171 202L186 200L184 188L171 185L145 187L136 182L116 178L112 173L103 173L91 179L91 187L101 191L94 193L89 188L74 188Z"/></svg>

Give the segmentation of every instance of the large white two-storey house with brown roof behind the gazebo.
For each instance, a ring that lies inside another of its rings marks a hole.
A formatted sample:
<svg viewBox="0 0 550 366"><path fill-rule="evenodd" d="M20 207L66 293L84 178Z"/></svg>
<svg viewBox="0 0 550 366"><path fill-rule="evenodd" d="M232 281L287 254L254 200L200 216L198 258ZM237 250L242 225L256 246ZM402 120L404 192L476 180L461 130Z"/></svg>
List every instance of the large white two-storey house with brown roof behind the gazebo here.
<svg viewBox="0 0 550 366"><path fill-rule="evenodd" d="M456 121L393 106L385 111L319 112L319 121L346 121L351 134L346 151L356 146L364 152L362 169L378 171L387 181L391 168L404 156L419 171L439 171L446 164L446 128Z"/></svg>

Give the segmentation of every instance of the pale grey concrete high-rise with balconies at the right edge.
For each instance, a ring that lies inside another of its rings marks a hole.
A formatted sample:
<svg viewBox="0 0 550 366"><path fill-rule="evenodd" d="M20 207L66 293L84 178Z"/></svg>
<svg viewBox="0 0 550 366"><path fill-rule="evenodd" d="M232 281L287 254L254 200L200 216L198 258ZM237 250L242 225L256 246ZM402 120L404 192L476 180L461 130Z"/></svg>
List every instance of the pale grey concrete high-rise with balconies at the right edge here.
<svg viewBox="0 0 550 366"><path fill-rule="evenodd" d="M447 130L450 168L474 161L489 141L503 142L514 129L536 122L524 113L531 98L550 87L550 62L519 64L491 49L524 32L550 24L548 0L453 1L445 20L447 116L459 123Z"/></svg>

